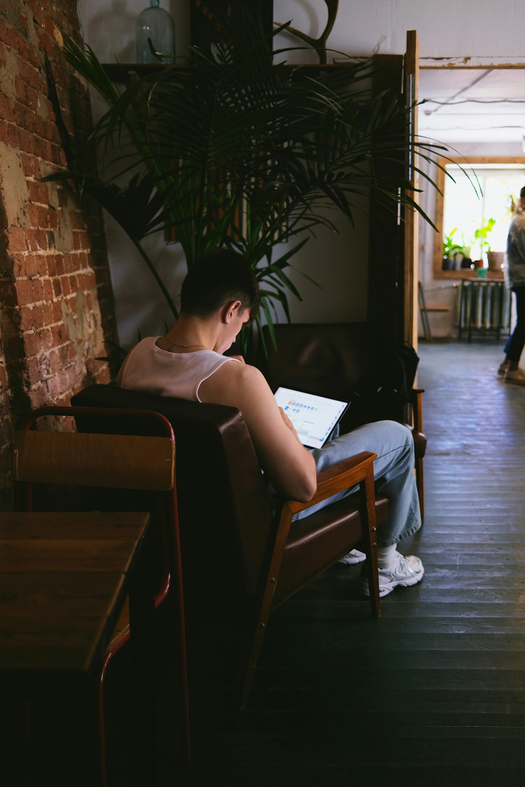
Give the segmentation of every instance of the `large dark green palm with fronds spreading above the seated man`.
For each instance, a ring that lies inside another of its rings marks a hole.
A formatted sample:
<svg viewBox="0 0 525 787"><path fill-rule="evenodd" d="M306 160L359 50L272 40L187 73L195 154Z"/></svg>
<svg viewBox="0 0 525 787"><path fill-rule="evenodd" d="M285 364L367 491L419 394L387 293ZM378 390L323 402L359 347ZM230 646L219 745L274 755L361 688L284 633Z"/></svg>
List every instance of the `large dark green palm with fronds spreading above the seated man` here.
<svg viewBox="0 0 525 787"><path fill-rule="evenodd" d="M398 165L407 146L396 95L372 94L370 62L272 65L271 39L287 26L266 38L248 35L246 24L231 27L216 54L192 47L185 65L128 82L123 91L89 46L65 39L68 61L109 104L83 146L65 128L46 64L68 164L50 178L72 180L81 197L95 198L119 222L174 316L141 245L153 232L171 230L188 266L220 246L242 252L256 269L272 335L275 304L289 316L288 294L301 297L287 268L316 227L337 231L338 212L353 224L371 189L395 211L401 199L423 213L402 176L377 174ZM427 160L442 150L417 147ZM275 247L288 241L274 259Z"/></svg>

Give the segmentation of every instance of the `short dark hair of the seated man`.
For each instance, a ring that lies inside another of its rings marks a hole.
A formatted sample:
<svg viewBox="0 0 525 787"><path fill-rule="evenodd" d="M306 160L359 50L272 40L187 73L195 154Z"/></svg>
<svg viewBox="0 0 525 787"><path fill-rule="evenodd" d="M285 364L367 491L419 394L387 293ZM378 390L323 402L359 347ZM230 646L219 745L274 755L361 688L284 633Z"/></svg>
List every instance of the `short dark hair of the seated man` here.
<svg viewBox="0 0 525 787"><path fill-rule="evenodd" d="M194 262L183 281L180 311L209 317L232 301L241 301L242 309L250 309L250 321L261 306L257 277L242 254L219 249Z"/></svg>

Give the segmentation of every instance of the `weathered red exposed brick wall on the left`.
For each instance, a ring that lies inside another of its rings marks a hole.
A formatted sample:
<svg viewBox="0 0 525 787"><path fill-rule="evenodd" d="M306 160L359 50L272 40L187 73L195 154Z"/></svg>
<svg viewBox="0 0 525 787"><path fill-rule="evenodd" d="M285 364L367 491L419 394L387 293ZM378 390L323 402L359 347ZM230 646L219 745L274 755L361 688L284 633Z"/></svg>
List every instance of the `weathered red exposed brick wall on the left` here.
<svg viewBox="0 0 525 787"><path fill-rule="evenodd" d="M91 127L87 86L61 50L79 42L76 2L0 6L0 508L9 506L9 444L20 418L106 382L105 339L116 339L102 218L67 187L40 179L65 164L47 99L50 57L70 131Z"/></svg>

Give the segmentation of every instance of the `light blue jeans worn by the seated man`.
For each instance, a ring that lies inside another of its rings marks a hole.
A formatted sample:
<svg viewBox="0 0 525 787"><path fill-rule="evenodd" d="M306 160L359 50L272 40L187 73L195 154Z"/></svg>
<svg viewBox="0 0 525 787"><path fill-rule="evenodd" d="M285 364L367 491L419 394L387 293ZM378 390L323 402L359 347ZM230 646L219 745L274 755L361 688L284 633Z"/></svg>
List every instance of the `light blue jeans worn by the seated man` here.
<svg viewBox="0 0 525 787"><path fill-rule="evenodd" d="M414 442L408 427L397 421L376 421L341 435L338 434L338 427L335 427L323 448L309 451L316 460L318 473L361 451L377 454L374 460L375 492L389 500L388 518L378 529L379 546L397 544L397 541L408 538L420 529L420 501L414 477ZM358 486L354 486L328 497L322 503L294 515L294 520L303 519L358 489ZM272 500L275 493L274 490L269 491Z"/></svg>

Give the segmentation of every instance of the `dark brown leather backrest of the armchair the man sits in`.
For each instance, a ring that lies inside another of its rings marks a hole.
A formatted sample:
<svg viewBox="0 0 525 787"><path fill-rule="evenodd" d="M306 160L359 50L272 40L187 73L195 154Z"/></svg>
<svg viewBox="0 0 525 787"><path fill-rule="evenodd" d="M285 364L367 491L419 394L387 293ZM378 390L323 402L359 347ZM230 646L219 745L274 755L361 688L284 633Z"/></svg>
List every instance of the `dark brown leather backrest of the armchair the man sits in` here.
<svg viewBox="0 0 525 787"><path fill-rule="evenodd" d="M185 582L229 600L227 614L242 621L261 583L276 523L268 504L242 414L222 405L90 386L75 405L156 409L176 433L176 483ZM82 407L83 409L83 407ZM96 418L76 416L79 430L102 430ZM119 430L136 434L122 419ZM116 427L116 425L115 425Z"/></svg>

